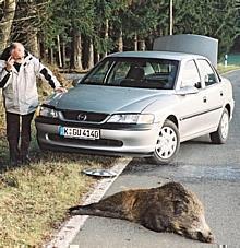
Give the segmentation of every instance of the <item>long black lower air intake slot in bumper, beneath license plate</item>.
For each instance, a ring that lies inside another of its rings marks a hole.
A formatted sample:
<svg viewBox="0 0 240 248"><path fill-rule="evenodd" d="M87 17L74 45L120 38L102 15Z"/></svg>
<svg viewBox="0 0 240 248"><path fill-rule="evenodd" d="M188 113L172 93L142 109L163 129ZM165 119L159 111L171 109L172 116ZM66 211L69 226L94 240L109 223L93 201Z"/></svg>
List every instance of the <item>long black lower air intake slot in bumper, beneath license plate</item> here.
<svg viewBox="0 0 240 248"><path fill-rule="evenodd" d="M57 142L68 142L75 145L96 145L96 146L115 146L121 147L123 145L122 141L119 140L109 140L109 139L99 139L99 140L82 140L74 138L63 138L58 134L49 134L48 138Z"/></svg>

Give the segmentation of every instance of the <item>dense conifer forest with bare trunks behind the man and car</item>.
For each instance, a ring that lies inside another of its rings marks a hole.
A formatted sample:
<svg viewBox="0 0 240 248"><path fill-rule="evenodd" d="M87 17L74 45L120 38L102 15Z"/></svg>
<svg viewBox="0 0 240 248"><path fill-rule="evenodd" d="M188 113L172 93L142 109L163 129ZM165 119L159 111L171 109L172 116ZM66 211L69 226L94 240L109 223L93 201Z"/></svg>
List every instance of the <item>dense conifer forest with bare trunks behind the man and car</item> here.
<svg viewBox="0 0 240 248"><path fill-rule="evenodd" d="M239 8L238 0L0 0L0 51L17 40L49 63L84 71L110 52L152 49L169 35L172 10L172 33L217 38L220 59L239 49Z"/></svg>

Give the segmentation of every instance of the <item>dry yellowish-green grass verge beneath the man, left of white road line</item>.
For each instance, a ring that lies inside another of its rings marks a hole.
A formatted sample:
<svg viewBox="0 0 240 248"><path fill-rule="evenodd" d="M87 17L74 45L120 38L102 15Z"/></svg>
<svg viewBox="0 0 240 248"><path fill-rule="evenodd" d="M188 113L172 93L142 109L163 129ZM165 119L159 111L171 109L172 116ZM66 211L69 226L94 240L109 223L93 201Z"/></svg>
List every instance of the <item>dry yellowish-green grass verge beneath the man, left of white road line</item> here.
<svg viewBox="0 0 240 248"><path fill-rule="evenodd" d="M48 88L41 91L45 97ZM4 109L0 96L0 247L40 247L97 182L83 168L108 168L117 158L41 152L33 125L29 166L8 167Z"/></svg>

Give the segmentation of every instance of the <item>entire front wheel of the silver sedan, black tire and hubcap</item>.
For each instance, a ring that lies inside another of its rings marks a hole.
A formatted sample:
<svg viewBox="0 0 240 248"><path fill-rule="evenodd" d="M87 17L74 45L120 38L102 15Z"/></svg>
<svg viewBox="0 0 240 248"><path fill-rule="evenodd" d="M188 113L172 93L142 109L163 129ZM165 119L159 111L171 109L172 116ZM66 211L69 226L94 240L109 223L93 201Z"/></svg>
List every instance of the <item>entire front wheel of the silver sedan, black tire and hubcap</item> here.
<svg viewBox="0 0 240 248"><path fill-rule="evenodd" d="M169 164L178 154L180 135L177 126L171 120L166 120L161 127L154 154L148 161L154 164Z"/></svg>

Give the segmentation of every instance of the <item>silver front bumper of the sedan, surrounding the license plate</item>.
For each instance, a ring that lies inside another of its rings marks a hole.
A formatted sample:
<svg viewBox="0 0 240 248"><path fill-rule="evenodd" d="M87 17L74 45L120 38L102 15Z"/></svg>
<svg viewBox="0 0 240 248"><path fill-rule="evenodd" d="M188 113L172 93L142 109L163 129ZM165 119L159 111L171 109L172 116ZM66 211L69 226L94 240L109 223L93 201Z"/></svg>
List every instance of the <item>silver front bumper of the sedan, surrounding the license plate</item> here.
<svg viewBox="0 0 240 248"><path fill-rule="evenodd" d="M159 123L153 125L80 125L75 122L35 119L37 140L41 149L65 152L94 153L103 155L152 155L159 131ZM100 139L73 139L59 135L59 127L99 129Z"/></svg>

